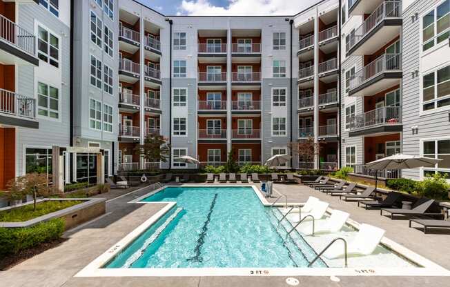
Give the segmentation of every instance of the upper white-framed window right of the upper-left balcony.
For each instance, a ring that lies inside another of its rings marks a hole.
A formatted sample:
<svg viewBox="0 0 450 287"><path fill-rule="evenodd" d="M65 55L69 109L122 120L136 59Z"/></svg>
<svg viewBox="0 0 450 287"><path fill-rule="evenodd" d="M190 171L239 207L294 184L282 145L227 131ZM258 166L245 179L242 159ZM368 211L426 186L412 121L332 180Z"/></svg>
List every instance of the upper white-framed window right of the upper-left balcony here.
<svg viewBox="0 0 450 287"><path fill-rule="evenodd" d="M37 27L37 57L59 67L59 38L41 26Z"/></svg>

